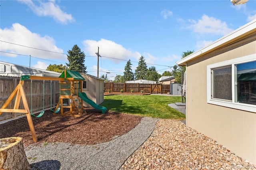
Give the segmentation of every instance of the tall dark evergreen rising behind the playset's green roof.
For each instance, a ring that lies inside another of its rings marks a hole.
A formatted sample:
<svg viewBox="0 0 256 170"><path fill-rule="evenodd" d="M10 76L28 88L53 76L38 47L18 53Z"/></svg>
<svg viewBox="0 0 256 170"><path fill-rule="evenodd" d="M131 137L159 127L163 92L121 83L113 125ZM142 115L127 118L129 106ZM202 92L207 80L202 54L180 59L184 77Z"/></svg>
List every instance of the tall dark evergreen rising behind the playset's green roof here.
<svg viewBox="0 0 256 170"><path fill-rule="evenodd" d="M66 65L70 70L86 72L86 67L84 66L85 54L81 52L81 49L77 45L74 45L72 50L68 50L67 56L69 63L66 63Z"/></svg>

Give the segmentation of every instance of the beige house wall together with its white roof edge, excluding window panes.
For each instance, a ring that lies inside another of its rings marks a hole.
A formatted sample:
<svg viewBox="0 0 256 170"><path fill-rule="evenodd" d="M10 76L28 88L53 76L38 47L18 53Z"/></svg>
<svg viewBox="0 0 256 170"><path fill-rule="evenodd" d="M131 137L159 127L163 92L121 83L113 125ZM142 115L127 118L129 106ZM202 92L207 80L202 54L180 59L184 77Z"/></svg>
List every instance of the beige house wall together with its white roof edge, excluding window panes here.
<svg viewBox="0 0 256 170"><path fill-rule="evenodd" d="M256 103L246 111L208 102L209 65L244 56L256 60L256 20L177 63L186 65L186 125L256 164Z"/></svg>

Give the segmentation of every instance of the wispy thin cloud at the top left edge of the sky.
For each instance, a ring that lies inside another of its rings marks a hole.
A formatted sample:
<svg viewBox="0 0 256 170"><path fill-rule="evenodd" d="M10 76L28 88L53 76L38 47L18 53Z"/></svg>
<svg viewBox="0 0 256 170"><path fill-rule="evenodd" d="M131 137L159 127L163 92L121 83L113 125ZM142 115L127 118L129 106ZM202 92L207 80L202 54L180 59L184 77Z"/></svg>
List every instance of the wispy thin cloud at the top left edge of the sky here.
<svg viewBox="0 0 256 170"><path fill-rule="evenodd" d="M54 0L49 0L49 2L34 1L39 3L38 6L32 0L18 1L26 4L38 16L50 16L54 18L54 20L63 24L75 21L71 14L67 14L62 11L60 7L55 4Z"/></svg>

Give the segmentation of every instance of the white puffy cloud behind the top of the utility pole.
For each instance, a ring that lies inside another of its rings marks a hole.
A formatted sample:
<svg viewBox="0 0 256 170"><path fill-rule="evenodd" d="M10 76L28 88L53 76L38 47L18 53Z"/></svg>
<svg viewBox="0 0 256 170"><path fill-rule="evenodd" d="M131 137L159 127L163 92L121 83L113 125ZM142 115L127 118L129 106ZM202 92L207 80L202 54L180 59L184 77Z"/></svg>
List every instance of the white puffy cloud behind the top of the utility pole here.
<svg viewBox="0 0 256 170"><path fill-rule="evenodd" d="M116 58L116 59L109 58L114 63L120 63L120 61L122 60L128 60L131 58L138 59L141 56L139 52L130 51L124 48L122 45L117 44L110 40L101 39L98 42L95 40L84 40L82 43L85 47L84 53L86 55L95 56L96 55L95 53L98 51L98 47L99 47L100 48L99 53L101 56Z"/></svg>

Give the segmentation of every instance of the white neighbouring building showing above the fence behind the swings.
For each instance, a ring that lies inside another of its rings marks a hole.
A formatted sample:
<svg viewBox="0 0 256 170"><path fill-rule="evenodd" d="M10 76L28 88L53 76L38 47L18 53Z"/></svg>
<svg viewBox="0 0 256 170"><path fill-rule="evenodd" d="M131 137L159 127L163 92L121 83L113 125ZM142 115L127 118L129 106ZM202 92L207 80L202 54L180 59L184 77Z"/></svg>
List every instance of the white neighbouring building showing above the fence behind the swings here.
<svg viewBox="0 0 256 170"><path fill-rule="evenodd" d="M8 71L8 68L6 68L6 65L15 67L17 69L12 68L11 71ZM18 65L13 63L7 63L4 61L0 61L0 73L20 73L20 75L29 75L32 74L42 74L45 77L59 77L60 73L57 73L55 71L48 71L44 69L38 69L33 67L27 67L24 65Z"/></svg>

